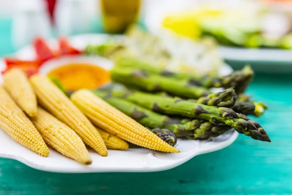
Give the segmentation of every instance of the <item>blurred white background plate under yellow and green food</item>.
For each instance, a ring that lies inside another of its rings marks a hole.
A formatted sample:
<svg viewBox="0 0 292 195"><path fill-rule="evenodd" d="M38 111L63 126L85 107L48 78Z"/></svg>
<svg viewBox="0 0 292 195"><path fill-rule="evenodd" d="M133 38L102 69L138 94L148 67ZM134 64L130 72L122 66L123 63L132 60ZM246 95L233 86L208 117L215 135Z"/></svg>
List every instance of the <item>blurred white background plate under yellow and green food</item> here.
<svg viewBox="0 0 292 195"><path fill-rule="evenodd" d="M164 37L164 34L168 35L170 32L169 29L162 25L165 16L198 6L198 1L182 0L181 2L178 6L176 6L174 0L169 0L167 3L164 0L152 2L155 6L152 7L151 14L147 14L144 19L147 30L159 37ZM222 1L222 4L224 2L226 1ZM228 5L237 6L237 2L228 2ZM274 23L271 22L271 24ZM219 45L218 50L225 62L234 69L240 69L244 65L250 64L256 72L292 73L292 50L277 48L254 49L222 45Z"/></svg>

